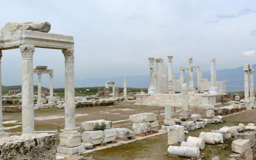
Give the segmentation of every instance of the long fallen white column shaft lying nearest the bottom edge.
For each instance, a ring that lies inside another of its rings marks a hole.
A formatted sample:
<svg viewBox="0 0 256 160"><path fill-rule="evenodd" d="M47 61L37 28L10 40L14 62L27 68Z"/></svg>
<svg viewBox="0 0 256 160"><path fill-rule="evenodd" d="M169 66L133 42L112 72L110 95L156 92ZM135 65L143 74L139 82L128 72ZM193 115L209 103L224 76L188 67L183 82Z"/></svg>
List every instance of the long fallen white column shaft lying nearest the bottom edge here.
<svg viewBox="0 0 256 160"><path fill-rule="evenodd" d="M179 157L198 158L200 150L197 147L180 147L170 145L167 149L170 155L177 155Z"/></svg>

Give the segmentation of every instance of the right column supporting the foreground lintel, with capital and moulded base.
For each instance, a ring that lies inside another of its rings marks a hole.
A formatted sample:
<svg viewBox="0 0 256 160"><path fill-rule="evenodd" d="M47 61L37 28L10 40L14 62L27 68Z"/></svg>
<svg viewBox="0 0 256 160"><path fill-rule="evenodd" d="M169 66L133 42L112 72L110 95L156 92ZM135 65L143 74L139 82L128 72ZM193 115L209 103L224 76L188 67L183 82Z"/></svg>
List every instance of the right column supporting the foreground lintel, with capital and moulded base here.
<svg viewBox="0 0 256 160"><path fill-rule="evenodd" d="M60 133L60 147L76 147L81 135L75 129L74 50L62 50L65 57L65 128Z"/></svg>

